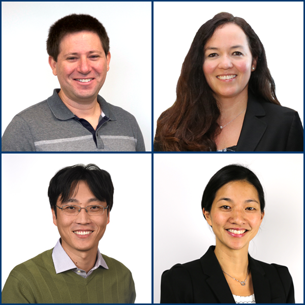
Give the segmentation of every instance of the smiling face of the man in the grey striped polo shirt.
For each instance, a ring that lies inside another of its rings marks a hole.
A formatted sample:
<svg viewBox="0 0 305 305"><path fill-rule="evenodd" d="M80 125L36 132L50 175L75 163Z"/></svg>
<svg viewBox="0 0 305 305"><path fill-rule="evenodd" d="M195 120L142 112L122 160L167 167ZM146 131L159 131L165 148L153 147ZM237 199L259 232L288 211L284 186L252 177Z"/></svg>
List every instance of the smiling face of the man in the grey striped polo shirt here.
<svg viewBox="0 0 305 305"><path fill-rule="evenodd" d="M97 98L109 63L110 52L106 57L99 36L88 31L64 36L59 45L57 63L49 56L49 64L60 84L60 98L80 104Z"/></svg>

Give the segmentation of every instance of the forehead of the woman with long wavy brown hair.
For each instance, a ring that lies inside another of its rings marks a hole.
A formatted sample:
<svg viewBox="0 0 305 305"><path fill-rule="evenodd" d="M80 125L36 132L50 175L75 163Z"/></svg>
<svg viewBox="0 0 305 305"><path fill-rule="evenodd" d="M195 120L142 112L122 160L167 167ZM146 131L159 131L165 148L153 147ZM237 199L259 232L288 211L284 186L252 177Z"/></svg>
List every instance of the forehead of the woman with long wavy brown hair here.
<svg viewBox="0 0 305 305"><path fill-rule="evenodd" d="M225 48L235 45L248 46L247 36L238 25L227 23L215 30L213 36L206 42L205 49L207 47Z"/></svg>

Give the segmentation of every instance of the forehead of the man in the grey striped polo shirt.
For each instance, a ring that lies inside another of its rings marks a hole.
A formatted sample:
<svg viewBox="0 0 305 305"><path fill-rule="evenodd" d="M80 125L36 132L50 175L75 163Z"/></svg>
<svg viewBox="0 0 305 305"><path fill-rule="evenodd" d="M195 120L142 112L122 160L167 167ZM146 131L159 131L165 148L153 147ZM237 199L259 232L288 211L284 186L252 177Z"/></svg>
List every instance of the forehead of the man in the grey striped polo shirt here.
<svg viewBox="0 0 305 305"><path fill-rule="evenodd" d="M60 52L78 52L91 49L103 50L103 46L98 34L89 31L66 34L59 44Z"/></svg>

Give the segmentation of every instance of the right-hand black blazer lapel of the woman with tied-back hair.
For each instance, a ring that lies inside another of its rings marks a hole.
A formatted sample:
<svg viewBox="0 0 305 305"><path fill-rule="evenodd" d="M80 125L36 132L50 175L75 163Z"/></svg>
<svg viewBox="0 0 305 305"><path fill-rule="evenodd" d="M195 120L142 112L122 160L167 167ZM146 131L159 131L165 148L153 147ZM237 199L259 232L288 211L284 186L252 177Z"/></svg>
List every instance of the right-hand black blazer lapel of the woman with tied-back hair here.
<svg viewBox="0 0 305 305"><path fill-rule="evenodd" d="M256 303L271 303L269 280L265 278L265 271L250 255L249 265L252 275L253 289Z"/></svg>

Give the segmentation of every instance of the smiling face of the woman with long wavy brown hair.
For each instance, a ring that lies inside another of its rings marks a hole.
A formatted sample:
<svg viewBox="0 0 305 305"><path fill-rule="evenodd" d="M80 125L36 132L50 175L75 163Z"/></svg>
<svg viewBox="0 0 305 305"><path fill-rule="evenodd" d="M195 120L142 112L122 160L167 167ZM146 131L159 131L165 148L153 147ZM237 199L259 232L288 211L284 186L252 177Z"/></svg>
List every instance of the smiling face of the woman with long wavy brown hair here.
<svg viewBox="0 0 305 305"><path fill-rule="evenodd" d="M248 90L253 67L247 36L234 23L217 28L204 46L203 73L216 99L238 98Z"/></svg>

